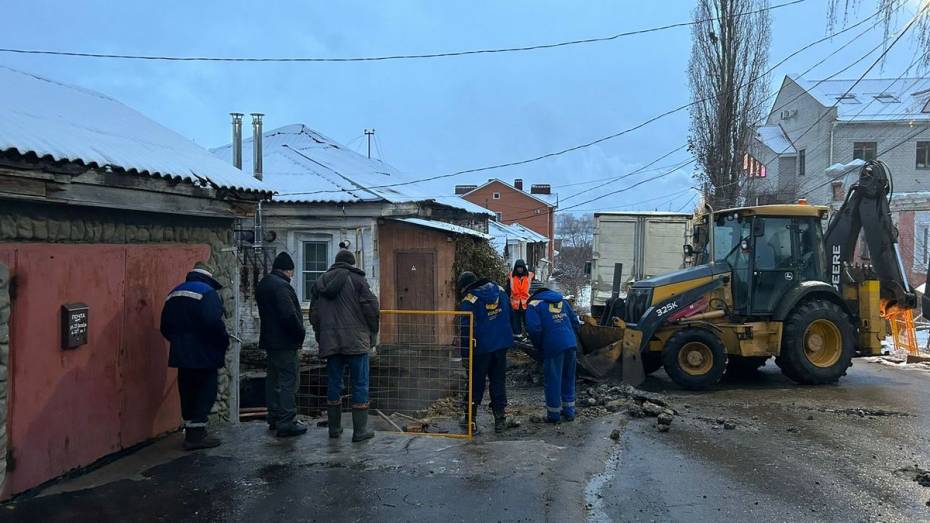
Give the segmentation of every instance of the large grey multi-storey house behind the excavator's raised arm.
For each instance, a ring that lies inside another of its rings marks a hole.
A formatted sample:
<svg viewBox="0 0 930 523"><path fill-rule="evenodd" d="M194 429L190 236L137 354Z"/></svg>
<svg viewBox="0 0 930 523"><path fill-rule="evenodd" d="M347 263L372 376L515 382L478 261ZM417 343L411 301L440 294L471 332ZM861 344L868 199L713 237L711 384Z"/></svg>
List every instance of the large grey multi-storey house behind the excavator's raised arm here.
<svg viewBox="0 0 930 523"><path fill-rule="evenodd" d="M930 78L803 80L786 76L745 165L756 201L842 205L855 159L891 169L891 209L911 283L930 258ZM867 261L864 250L860 260Z"/></svg>

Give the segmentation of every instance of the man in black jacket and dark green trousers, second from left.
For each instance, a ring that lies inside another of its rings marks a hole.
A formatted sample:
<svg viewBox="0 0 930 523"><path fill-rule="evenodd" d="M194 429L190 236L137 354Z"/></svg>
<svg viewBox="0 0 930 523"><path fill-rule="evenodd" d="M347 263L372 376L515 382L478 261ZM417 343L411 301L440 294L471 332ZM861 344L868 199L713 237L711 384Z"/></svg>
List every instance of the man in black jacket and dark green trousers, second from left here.
<svg viewBox="0 0 930 523"><path fill-rule="evenodd" d="M261 333L258 345L267 353L265 400L268 428L278 437L299 436L307 426L297 420L297 351L303 346L306 329L297 293L291 286L294 260L278 254L271 272L255 288Z"/></svg>

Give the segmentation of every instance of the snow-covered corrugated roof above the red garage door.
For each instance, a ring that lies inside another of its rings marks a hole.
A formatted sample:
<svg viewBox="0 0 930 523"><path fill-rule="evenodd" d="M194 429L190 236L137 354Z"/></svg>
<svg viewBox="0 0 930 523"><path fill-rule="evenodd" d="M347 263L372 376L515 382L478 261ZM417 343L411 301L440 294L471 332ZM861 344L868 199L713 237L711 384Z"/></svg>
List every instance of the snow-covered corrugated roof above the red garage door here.
<svg viewBox="0 0 930 523"><path fill-rule="evenodd" d="M261 182L106 95L0 66L0 151L243 191Z"/></svg>

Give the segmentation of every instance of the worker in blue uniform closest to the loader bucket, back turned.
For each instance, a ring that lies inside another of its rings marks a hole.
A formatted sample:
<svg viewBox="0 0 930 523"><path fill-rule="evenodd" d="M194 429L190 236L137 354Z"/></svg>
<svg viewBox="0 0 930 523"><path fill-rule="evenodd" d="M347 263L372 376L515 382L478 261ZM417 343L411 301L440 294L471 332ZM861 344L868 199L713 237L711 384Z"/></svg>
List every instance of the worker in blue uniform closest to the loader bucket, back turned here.
<svg viewBox="0 0 930 523"><path fill-rule="evenodd" d="M530 296L526 333L543 355L546 387L546 421L575 419L576 337L581 325L561 294L542 288Z"/></svg>

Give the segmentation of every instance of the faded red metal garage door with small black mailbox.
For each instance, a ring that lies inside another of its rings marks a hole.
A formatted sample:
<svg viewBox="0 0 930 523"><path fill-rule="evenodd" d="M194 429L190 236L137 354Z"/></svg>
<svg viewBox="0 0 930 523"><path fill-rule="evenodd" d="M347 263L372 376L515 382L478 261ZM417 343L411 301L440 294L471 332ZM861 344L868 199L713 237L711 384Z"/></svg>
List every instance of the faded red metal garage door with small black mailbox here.
<svg viewBox="0 0 930 523"><path fill-rule="evenodd" d="M179 424L158 332L164 296L207 246L0 245L16 281L9 445L15 494ZM60 308L89 308L88 343L61 349Z"/></svg>

